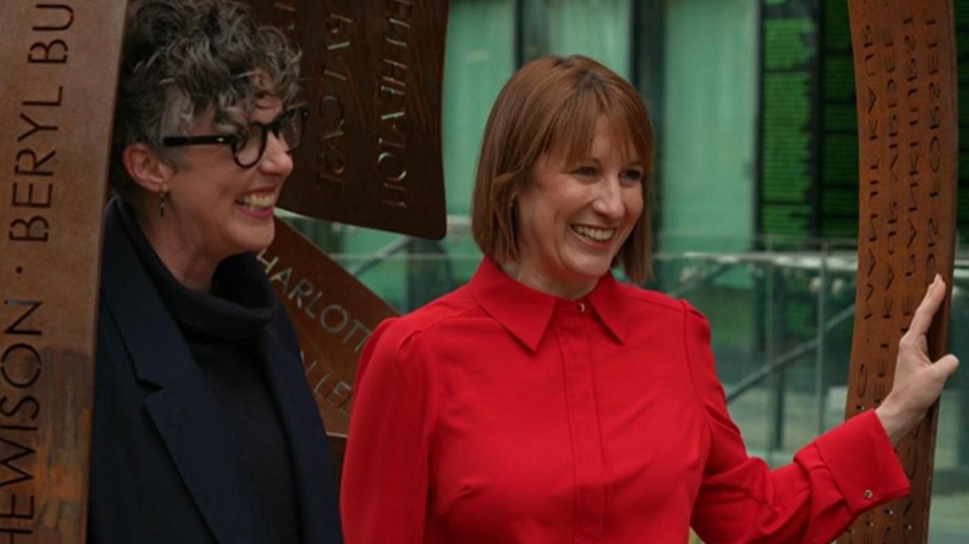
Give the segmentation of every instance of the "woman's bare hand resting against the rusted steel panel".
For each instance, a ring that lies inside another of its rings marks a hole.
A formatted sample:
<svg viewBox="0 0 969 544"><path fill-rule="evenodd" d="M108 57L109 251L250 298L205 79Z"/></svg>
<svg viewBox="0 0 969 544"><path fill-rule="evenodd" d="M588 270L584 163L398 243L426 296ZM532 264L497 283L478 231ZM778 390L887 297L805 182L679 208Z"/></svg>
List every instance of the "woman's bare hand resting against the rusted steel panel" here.
<svg viewBox="0 0 969 544"><path fill-rule="evenodd" d="M898 341L898 359L891 393L875 408L875 413L897 444L922 421L932 403L942 393L946 379L953 375L959 360L953 354L944 355L934 363L928 358L928 339L925 334L932 317L946 298L946 283L936 274L925 290L925 297L912 317L908 332Z"/></svg>

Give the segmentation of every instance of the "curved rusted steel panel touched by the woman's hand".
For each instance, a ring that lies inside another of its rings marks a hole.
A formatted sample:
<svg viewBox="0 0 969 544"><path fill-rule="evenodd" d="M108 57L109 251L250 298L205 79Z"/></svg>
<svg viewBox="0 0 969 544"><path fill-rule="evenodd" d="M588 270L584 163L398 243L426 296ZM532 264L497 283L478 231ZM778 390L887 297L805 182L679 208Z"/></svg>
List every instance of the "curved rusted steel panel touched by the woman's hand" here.
<svg viewBox="0 0 969 544"><path fill-rule="evenodd" d="M951 0L850 0L858 92L858 294L846 415L891 390L898 341L935 273L952 286L957 149ZM950 298L928 334L946 349ZM895 448L912 494L842 543L925 542L938 405Z"/></svg>

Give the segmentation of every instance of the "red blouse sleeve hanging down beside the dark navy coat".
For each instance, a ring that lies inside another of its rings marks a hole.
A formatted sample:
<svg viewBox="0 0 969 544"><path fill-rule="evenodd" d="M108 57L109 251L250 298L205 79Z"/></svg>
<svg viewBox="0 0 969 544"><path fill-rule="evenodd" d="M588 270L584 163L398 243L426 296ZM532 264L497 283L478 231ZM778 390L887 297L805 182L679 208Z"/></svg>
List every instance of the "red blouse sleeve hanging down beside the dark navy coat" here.
<svg viewBox="0 0 969 544"><path fill-rule="evenodd" d="M391 318L360 356L340 493L347 544L420 544L438 406L415 334Z"/></svg>

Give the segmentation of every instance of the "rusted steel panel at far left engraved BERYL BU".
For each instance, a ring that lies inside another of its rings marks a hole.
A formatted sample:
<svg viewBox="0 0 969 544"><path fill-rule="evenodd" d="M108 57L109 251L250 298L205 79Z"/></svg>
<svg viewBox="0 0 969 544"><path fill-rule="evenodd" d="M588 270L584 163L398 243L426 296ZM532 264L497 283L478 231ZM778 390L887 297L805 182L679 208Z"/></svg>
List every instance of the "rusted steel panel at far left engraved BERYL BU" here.
<svg viewBox="0 0 969 544"><path fill-rule="evenodd" d="M0 540L82 542L125 3L0 15Z"/></svg>

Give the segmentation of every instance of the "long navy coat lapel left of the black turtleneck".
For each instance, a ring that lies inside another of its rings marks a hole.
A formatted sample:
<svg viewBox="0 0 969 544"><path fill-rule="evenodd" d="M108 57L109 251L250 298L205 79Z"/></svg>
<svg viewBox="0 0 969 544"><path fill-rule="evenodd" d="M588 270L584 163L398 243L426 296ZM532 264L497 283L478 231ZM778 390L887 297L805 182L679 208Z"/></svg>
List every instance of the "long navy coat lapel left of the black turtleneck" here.
<svg viewBox="0 0 969 544"><path fill-rule="evenodd" d="M117 206L109 204L105 224L102 304L136 376L159 387L145 400L151 420L216 540L263 543L255 490L233 448L229 421L144 270Z"/></svg>

